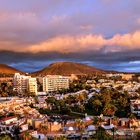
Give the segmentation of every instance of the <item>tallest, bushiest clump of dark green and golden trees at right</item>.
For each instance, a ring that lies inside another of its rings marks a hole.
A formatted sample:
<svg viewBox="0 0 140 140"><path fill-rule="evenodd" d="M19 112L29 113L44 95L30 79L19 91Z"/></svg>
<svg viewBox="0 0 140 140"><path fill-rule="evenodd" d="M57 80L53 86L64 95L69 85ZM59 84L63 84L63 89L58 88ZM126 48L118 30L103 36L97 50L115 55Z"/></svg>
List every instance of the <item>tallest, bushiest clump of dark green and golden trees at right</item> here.
<svg viewBox="0 0 140 140"><path fill-rule="evenodd" d="M113 88L102 88L100 93L89 99L86 109L94 110L92 111L94 115L128 117L130 113L130 96L127 92L119 92Z"/></svg>

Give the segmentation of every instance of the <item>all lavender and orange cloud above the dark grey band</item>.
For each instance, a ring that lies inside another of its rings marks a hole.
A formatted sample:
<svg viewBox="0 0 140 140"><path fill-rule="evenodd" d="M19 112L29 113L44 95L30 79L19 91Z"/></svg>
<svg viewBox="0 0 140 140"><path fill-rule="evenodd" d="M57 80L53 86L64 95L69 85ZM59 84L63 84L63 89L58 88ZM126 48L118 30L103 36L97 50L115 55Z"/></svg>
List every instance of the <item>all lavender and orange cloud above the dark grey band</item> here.
<svg viewBox="0 0 140 140"><path fill-rule="evenodd" d="M0 50L107 53L139 49L139 0L128 0L130 6L122 0L14 1L18 6L1 1Z"/></svg>

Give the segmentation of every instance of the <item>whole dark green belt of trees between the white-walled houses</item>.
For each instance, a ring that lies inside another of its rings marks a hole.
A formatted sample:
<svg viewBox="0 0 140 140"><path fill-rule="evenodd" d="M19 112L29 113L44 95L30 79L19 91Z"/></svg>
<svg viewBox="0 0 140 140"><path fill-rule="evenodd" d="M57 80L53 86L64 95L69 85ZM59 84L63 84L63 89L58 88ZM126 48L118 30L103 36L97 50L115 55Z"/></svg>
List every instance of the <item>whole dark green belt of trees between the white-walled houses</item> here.
<svg viewBox="0 0 140 140"><path fill-rule="evenodd" d="M57 100L48 97L47 104L50 109L40 109L40 113L70 114L72 112L85 113L90 115L107 115L117 117L130 116L130 95L127 92L120 92L116 89L102 88L100 93L95 93L90 99L86 93L69 95L65 99Z"/></svg>

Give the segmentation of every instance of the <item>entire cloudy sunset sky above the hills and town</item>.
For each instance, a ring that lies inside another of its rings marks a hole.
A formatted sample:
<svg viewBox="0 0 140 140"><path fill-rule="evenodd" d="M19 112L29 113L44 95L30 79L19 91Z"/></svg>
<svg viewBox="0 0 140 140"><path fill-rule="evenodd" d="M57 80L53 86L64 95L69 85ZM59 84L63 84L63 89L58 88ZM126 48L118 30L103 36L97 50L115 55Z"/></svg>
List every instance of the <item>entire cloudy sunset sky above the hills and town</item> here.
<svg viewBox="0 0 140 140"><path fill-rule="evenodd" d="M0 63L58 61L140 72L140 0L0 0Z"/></svg>

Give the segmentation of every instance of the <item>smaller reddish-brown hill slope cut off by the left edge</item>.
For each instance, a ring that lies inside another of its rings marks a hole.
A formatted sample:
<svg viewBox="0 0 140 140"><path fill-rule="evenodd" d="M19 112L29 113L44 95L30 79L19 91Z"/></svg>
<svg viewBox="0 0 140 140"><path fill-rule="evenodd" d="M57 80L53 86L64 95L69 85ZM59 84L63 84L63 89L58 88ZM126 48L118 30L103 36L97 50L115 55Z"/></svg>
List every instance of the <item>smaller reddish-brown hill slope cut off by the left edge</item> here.
<svg viewBox="0 0 140 140"><path fill-rule="evenodd" d="M0 74L14 74L14 73L22 73L22 72L6 64L0 64Z"/></svg>

